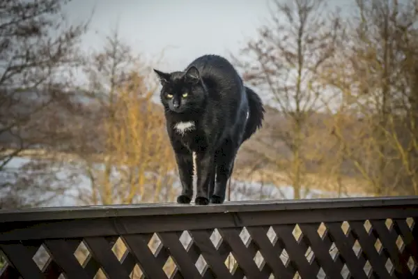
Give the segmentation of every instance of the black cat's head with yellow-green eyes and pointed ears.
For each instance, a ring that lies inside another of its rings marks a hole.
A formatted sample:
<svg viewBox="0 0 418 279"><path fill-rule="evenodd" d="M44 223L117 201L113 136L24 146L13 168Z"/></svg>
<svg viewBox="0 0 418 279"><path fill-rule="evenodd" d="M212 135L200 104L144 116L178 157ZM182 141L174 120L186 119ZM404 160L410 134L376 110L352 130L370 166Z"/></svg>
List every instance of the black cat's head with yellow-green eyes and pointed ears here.
<svg viewBox="0 0 418 279"><path fill-rule="evenodd" d="M206 100L206 89L199 70L192 66L183 72L155 70L161 84L160 98L166 110L177 113L197 112Z"/></svg>

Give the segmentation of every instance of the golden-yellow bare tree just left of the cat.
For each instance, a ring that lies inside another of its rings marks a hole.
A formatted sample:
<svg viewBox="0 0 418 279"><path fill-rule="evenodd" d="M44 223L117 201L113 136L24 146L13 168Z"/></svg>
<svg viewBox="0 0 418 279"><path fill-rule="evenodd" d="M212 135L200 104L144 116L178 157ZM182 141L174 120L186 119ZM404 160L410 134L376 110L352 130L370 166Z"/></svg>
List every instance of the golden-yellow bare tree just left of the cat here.
<svg viewBox="0 0 418 279"><path fill-rule="evenodd" d="M91 55L84 91L95 113L80 119L95 139L79 138L79 158L89 186L83 204L131 204L171 200L176 176L164 133L162 107L153 103L158 83L151 68L118 38L106 38Z"/></svg>

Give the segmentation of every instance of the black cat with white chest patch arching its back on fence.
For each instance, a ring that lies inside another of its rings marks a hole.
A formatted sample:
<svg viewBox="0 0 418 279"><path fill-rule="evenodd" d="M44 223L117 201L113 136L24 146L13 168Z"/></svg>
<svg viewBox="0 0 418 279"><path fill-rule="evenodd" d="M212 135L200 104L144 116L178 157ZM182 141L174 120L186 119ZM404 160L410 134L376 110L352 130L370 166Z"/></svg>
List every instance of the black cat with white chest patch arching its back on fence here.
<svg viewBox="0 0 418 279"><path fill-rule="evenodd" d="M167 131L183 186L177 202L189 204L192 199L195 153L195 203L222 204L238 149L262 126L261 98L221 56L201 56L184 71L154 71L162 84Z"/></svg>

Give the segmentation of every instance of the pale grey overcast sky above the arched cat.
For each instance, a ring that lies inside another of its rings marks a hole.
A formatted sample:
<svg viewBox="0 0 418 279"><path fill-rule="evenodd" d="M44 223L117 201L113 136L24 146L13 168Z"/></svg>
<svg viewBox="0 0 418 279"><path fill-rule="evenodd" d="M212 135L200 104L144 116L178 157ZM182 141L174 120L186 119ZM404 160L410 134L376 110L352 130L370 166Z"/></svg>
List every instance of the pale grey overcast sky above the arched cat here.
<svg viewBox="0 0 418 279"><path fill-rule="evenodd" d="M354 0L330 0L344 4ZM118 26L121 38L148 57L165 47L163 70L180 70L202 54L228 56L256 35L269 16L268 0L73 0L66 11L72 22L95 13L84 47L100 47Z"/></svg>

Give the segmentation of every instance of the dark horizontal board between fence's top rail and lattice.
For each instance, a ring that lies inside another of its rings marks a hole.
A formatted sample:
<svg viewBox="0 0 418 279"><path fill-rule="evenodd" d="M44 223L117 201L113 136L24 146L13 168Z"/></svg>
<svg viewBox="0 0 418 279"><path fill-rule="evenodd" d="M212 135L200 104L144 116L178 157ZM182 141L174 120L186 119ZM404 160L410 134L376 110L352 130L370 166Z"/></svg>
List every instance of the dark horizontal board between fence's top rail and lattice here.
<svg viewBox="0 0 418 279"><path fill-rule="evenodd" d="M261 215L257 212L242 212L240 216L240 226L263 226L281 225L295 223L320 223L337 222L341 220L364 220L364 212L368 211L369 216L376 219L384 218L407 218L418 216L417 208L391 209L391 208L353 208L333 209L332 214L329 210L315 209L307 211L286 211L280 214L279 211L266 211ZM15 224L0 226L0 241L13 241L20 239L54 239L56 235L63 238L77 238L87 236L119 235L118 227L123 227L124 234L144 234L153 232L173 232L185 229L213 229L214 227L235 227L237 213L214 213L195 215L194 218L181 218L182 216L139 216L126 217L118 221L111 218L98 219L77 219L60 220L49 223L28 223L25 227L18 227ZM344 216L344 218L342 217ZM144 225L146 224L146 225ZM164 224L164 226L162 226ZM95 229L91 229L95 227Z"/></svg>

